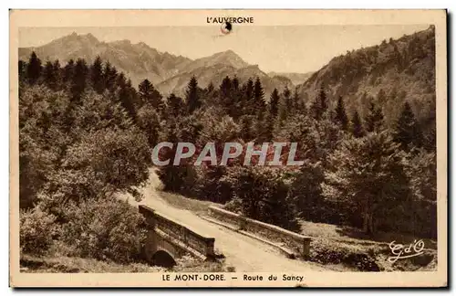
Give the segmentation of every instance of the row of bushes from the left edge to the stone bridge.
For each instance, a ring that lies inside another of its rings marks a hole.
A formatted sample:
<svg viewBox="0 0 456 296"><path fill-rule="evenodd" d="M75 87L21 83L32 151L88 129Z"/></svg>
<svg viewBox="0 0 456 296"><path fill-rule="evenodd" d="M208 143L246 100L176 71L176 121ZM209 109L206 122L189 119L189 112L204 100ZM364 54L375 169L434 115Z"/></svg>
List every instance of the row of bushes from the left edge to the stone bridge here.
<svg viewBox="0 0 456 296"><path fill-rule="evenodd" d="M118 263L140 259L146 230L140 227L143 217L128 202L115 198L69 202L59 206L59 224L47 213L56 211L55 205L47 204L51 201L21 212L22 252L43 255L54 250L58 255Z"/></svg>

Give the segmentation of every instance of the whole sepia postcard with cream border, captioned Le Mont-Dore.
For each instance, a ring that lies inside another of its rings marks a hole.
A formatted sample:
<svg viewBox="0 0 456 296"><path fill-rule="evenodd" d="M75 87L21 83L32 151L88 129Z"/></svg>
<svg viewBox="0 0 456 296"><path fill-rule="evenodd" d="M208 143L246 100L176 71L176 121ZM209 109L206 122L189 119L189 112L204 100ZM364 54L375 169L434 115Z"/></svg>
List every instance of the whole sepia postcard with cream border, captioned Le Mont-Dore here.
<svg viewBox="0 0 456 296"><path fill-rule="evenodd" d="M10 284L446 286L446 12L351 13L11 11Z"/></svg>

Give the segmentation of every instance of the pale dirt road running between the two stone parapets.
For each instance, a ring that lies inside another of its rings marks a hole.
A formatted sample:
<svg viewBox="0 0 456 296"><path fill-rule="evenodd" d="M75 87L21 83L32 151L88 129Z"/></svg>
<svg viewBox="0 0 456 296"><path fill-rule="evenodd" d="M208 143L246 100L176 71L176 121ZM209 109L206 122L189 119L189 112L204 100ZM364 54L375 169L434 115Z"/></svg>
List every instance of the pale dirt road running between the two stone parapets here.
<svg viewBox="0 0 456 296"><path fill-rule="evenodd" d="M172 206L157 192L160 180L151 172L150 180L142 190L144 199L140 204L147 205L181 222L203 236L215 238L215 249L225 256L226 266L233 266L239 272L292 272L324 270L313 262L287 259L275 248L254 238L248 238L228 228L208 222L190 210Z"/></svg>

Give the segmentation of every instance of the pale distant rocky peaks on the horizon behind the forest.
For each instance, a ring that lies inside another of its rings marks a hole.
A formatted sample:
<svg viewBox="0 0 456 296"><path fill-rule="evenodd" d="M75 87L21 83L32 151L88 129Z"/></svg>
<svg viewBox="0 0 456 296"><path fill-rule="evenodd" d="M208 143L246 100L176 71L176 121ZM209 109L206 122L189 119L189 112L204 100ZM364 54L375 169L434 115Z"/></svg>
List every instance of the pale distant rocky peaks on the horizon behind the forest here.
<svg viewBox="0 0 456 296"><path fill-rule="evenodd" d="M309 76L303 76L302 80L299 80L300 74L296 73L290 73L290 76L287 73L268 75L258 65L245 62L233 50L191 59L161 52L143 42L138 44L133 44L130 40L102 42L92 34L72 33L41 47L19 48L19 58L27 60L32 51L35 51L38 58L43 61L58 59L61 64L65 64L71 58L75 60L85 58L88 63L91 63L99 56L124 72L133 85L137 86L143 79L150 79L155 88L164 95L169 95L171 92L182 95L192 76L198 79L202 88L211 82L217 86L226 76L236 76L241 83L249 78L258 77L262 80L266 96L275 88L284 90L286 86L294 89L298 82L304 82L304 79Z"/></svg>

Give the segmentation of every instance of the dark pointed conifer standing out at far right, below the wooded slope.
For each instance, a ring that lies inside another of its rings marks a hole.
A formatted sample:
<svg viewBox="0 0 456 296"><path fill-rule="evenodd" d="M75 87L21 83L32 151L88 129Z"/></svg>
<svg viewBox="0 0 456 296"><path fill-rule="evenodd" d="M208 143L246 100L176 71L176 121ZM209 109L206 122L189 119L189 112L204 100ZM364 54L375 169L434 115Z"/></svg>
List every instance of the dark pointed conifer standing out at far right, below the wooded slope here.
<svg viewBox="0 0 456 296"><path fill-rule="evenodd" d="M399 120L396 123L394 140L397 143L400 143L401 147L405 150L411 149L413 145L417 147L420 146L420 126L408 101L404 103L402 112L399 115Z"/></svg>

